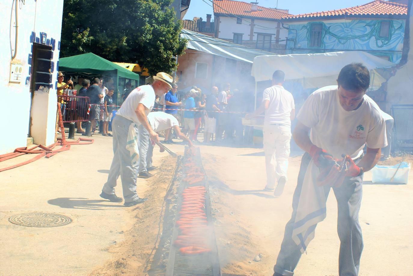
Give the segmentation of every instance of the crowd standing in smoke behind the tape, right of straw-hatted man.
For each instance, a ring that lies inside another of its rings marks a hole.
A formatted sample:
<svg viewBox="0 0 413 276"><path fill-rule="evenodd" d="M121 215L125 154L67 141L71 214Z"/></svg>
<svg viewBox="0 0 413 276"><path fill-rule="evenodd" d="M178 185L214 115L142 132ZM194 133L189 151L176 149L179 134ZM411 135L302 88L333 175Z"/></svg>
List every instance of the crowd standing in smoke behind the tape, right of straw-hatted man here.
<svg viewBox="0 0 413 276"><path fill-rule="evenodd" d="M169 92L156 99L155 109L175 117L182 132L188 134L192 142L251 142L251 127L243 126L241 118L254 109L253 92L231 91L229 83L224 83L222 87L221 92L216 86L202 92L199 87L192 86L189 92L178 94L178 85L174 83ZM201 132L202 140L198 140ZM175 133L163 142L171 144L173 138L177 138Z"/></svg>

